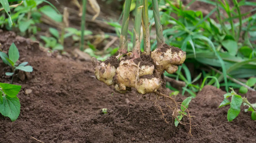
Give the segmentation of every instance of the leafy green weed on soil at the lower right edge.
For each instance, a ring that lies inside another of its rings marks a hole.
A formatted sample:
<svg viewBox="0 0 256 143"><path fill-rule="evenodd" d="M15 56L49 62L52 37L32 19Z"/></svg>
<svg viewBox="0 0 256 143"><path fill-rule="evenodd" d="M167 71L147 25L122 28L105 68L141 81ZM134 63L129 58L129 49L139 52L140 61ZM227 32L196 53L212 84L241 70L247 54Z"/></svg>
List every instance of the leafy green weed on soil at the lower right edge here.
<svg viewBox="0 0 256 143"><path fill-rule="evenodd" d="M245 109L244 112L252 111L251 118L252 120L256 120L256 103L251 104L247 98L238 95L233 88L230 88L232 91L230 93L224 94L224 100L221 102L220 107L230 105L229 110L227 111L227 120L233 121L234 118L238 116L240 113L240 106L246 105L249 106L248 109ZM231 102L228 98L231 97Z"/></svg>

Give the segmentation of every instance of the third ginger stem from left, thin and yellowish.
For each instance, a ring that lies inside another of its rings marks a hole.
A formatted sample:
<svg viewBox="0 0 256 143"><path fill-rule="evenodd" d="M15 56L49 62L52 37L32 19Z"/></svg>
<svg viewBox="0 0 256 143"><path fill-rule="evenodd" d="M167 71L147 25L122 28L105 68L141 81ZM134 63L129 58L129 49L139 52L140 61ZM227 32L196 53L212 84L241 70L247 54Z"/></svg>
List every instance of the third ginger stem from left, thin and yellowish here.
<svg viewBox="0 0 256 143"><path fill-rule="evenodd" d="M150 23L148 22L148 0L143 1L143 12L142 12L142 29L143 29L143 42L144 42L144 53L150 54Z"/></svg>

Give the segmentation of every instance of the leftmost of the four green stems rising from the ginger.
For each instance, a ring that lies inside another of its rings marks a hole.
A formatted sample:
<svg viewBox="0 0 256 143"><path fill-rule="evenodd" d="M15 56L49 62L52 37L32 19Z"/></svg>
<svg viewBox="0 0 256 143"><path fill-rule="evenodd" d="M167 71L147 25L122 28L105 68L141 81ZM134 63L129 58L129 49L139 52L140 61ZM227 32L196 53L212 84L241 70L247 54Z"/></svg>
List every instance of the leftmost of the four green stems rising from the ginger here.
<svg viewBox="0 0 256 143"><path fill-rule="evenodd" d="M120 35L120 42L119 42L119 55L123 55L127 53L127 49L128 49L127 36L128 36L130 8L131 8L131 0L125 0L124 15L122 20L122 28L121 28L121 35Z"/></svg>

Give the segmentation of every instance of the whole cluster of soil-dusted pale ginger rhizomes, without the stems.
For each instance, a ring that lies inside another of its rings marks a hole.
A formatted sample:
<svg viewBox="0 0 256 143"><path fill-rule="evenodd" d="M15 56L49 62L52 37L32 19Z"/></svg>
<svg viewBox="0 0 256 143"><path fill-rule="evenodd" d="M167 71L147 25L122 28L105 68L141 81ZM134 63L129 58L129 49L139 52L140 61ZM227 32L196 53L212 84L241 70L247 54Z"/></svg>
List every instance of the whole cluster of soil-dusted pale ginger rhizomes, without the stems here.
<svg viewBox="0 0 256 143"><path fill-rule="evenodd" d="M186 59L186 52L163 44L151 52L150 59L136 57L132 52L122 57L112 56L107 62L93 57L95 76L108 86L114 85L119 93L125 93L130 88L135 88L141 94L155 93L164 84L164 77L161 76L164 71L176 72Z"/></svg>

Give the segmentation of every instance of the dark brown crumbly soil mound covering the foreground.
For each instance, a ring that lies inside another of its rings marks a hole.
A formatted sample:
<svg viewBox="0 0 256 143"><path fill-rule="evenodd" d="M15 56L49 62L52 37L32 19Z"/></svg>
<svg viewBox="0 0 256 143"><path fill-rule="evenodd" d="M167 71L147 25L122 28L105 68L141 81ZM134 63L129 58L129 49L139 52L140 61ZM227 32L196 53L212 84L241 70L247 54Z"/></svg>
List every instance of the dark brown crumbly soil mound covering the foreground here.
<svg viewBox="0 0 256 143"><path fill-rule="evenodd" d="M29 62L34 71L14 77L13 84L22 86L21 111L14 122L0 115L1 143L256 142L256 121L243 111L245 107L232 122L226 118L228 107L218 108L225 94L220 89L205 86L191 101L188 109L196 125L192 137L189 126L175 128L172 113L165 115L167 124L154 102L134 91L117 94L96 80L91 62L43 52L38 42L0 31L3 52L12 42L20 51L19 62ZM4 74L10 70L0 61L0 82L10 83L11 77ZM256 102L255 92L246 96ZM108 113L102 114L102 108Z"/></svg>

